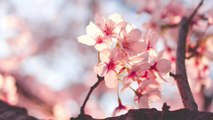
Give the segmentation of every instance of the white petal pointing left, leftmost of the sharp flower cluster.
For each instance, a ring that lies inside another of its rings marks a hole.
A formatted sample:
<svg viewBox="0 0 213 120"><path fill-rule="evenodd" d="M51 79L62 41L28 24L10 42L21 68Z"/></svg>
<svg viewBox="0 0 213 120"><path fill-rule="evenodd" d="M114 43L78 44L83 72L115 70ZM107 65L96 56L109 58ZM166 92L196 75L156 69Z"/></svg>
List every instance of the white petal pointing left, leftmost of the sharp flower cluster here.
<svg viewBox="0 0 213 120"><path fill-rule="evenodd" d="M89 46L95 45L96 43L95 39L90 37L89 35L82 35L78 37L77 39L78 39L78 42L89 45Z"/></svg>

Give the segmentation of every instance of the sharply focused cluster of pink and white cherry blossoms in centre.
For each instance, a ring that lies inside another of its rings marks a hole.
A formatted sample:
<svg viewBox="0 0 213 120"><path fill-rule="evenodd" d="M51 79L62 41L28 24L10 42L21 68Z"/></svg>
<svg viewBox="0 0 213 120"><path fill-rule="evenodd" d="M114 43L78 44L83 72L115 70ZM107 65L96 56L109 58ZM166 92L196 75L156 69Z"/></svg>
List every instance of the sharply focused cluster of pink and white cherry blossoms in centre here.
<svg viewBox="0 0 213 120"><path fill-rule="evenodd" d="M86 35L78 42L94 46L99 54L99 63L94 72L104 77L108 88L121 83L122 90L131 88L140 107L148 107L148 101L160 97L157 78L164 79L171 70L171 62L163 58L163 51L155 50L156 36L153 32L143 34L140 29L128 24L121 15L112 14L107 19L96 16L90 22ZM137 83L137 88L131 87Z"/></svg>

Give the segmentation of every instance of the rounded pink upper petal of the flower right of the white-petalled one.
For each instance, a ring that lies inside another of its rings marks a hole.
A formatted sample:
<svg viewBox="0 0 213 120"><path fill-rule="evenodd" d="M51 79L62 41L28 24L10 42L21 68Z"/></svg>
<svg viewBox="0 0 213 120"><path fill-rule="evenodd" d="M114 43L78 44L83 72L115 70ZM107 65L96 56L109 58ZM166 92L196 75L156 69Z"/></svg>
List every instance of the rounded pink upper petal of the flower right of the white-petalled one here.
<svg viewBox="0 0 213 120"><path fill-rule="evenodd" d="M130 41L138 41L141 38L141 31L139 29L133 29L128 33L128 38Z"/></svg>

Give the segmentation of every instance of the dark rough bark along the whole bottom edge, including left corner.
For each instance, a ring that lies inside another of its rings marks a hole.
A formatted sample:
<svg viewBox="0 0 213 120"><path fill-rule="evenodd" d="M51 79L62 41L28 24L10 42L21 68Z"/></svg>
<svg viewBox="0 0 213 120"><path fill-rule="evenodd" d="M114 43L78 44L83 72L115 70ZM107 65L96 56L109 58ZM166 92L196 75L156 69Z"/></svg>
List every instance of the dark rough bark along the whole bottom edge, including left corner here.
<svg viewBox="0 0 213 120"><path fill-rule="evenodd" d="M169 108L169 107L166 107ZM38 120L27 114L26 109L10 106L0 101L0 120ZM77 118L71 120L98 120L92 118L90 115L79 115ZM100 119L99 119L100 120ZM158 111L156 109L134 109L128 113L109 117L102 120L213 120L213 113L199 112L196 110L180 109L169 111L163 109Z"/></svg>

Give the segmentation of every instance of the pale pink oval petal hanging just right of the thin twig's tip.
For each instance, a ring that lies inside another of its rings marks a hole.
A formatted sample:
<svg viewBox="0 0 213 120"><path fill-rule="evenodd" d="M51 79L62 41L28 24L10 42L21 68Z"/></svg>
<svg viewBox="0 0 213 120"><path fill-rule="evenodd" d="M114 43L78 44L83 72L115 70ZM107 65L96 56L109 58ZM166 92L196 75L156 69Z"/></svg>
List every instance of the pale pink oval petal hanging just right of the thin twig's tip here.
<svg viewBox="0 0 213 120"><path fill-rule="evenodd" d="M105 84L108 88L116 88L118 85L118 80L116 73L112 70L110 70L104 77Z"/></svg>

